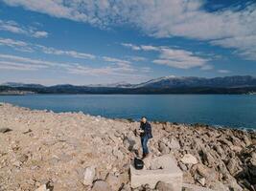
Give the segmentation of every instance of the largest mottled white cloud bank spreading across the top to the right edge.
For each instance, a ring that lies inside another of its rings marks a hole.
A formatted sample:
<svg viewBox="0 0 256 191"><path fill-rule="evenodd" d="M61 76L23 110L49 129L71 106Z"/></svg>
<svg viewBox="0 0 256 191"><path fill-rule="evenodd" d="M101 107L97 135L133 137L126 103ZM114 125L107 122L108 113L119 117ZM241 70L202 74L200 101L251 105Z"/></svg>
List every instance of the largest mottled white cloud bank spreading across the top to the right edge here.
<svg viewBox="0 0 256 191"><path fill-rule="evenodd" d="M256 35L255 3L248 4L240 10L230 7L208 12L203 9L202 0L4 0L4 2L10 6L22 6L31 11L90 23L101 28L125 23L155 37L182 36L207 40L221 47L234 48L245 57L248 53L255 53L256 49L255 41L246 40L247 36ZM230 43L231 39L235 39L237 43ZM245 51L238 46L239 42L244 42ZM253 55L250 58L256 59Z"/></svg>

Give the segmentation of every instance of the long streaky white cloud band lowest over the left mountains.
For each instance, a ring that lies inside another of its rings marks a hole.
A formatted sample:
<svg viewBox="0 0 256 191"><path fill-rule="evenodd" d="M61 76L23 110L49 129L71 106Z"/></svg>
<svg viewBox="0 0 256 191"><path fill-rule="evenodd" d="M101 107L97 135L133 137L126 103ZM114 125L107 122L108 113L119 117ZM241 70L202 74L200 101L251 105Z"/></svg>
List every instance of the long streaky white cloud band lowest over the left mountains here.
<svg viewBox="0 0 256 191"><path fill-rule="evenodd" d="M116 78L118 80L139 79L140 77L145 77L142 73L140 73L140 71L150 72L149 68L134 68L124 62L124 65L120 62L112 63L112 61L118 60L115 58L105 57L105 59L108 59L111 62L111 65L96 68L88 64L59 63L55 61L0 53L0 70L39 71L42 69L47 69L66 74L80 74L85 76L92 75L101 77L108 76L109 79Z"/></svg>

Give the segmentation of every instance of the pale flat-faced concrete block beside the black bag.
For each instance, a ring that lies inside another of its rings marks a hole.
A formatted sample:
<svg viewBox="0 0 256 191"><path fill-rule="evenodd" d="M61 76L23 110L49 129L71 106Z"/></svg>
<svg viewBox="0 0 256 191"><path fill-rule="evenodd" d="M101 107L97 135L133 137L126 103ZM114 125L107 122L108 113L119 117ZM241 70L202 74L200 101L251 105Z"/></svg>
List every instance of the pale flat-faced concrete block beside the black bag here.
<svg viewBox="0 0 256 191"><path fill-rule="evenodd" d="M130 165L132 188L145 184L154 188L158 181L164 181L170 183L175 191L181 191L182 171L177 167L175 159L171 155L146 159L145 164L146 167L142 170L136 170L133 164Z"/></svg>

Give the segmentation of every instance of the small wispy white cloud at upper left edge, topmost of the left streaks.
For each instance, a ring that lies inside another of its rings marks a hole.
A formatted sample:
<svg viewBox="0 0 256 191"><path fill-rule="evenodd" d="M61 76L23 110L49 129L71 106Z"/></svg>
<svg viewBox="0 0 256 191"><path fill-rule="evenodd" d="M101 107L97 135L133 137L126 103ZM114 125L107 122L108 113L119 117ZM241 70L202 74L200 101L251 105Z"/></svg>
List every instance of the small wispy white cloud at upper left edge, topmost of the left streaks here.
<svg viewBox="0 0 256 191"><path fill-rule="evenodd" d="M43 38L48 36L48 32L37 31L35 27L24 27L17 24L15 21L4 21L0 19L0 31L7 31L12 33L20 33L35 38Z"/></svg>

